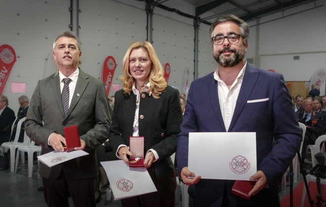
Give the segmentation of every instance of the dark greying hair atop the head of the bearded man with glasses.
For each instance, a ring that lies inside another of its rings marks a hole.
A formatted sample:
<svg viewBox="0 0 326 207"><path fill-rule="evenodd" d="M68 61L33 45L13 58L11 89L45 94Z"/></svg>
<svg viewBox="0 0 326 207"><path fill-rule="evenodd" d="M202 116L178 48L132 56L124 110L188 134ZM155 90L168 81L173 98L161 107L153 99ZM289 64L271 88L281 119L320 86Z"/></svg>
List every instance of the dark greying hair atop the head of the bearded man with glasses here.
<svg viewBox="0 0 326 207"><path fill-rule="evenodd" d="M248 41L249 37L249 26L244 20L240 19L239 17L233 15L233 14L223 14L216 18L216 20L212 23L209 29L210 37L213 37L212 33L216 25L223 23L223 22L234 22L240 26L240 32L241 36L244 39L244 44Z"/></svg>

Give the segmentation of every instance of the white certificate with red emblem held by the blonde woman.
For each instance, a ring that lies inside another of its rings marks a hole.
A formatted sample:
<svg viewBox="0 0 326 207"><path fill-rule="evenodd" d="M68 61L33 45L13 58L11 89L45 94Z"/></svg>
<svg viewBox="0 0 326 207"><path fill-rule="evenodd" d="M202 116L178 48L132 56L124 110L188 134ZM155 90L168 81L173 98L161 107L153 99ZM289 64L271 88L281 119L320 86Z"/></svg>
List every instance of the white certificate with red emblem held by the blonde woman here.
<svg viewBox="0 0 326 207"><path fill-rule="evenodd" d="M146 168L129 168L123 160L101 162L115 200L156 192Z"/></svg>

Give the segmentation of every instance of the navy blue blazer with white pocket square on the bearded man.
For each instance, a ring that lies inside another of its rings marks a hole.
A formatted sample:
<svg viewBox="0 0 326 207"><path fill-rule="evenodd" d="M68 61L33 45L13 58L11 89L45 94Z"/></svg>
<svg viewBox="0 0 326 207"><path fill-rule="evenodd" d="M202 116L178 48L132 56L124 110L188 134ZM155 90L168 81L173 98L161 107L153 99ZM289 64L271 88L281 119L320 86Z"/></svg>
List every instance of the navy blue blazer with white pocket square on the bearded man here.
<svg viewBox="0 0 326 207"><path fill-rule="evenodd" d="M218 84L213 74L214 72L194 80L191 84L177 142L179 174L188 166L190 132L226 132L220 110ZM248 103L263 99L268 100ZM247 64L228 132L256 133L257 170L265 174L269 186L285 173L302 140L292 108L291 97L281 74L256 69ZM203 187L205 181L202 180L196 184L196 189L197 186ZM211 189L208 185L209 182L206 183L206 189Z"/></svg>

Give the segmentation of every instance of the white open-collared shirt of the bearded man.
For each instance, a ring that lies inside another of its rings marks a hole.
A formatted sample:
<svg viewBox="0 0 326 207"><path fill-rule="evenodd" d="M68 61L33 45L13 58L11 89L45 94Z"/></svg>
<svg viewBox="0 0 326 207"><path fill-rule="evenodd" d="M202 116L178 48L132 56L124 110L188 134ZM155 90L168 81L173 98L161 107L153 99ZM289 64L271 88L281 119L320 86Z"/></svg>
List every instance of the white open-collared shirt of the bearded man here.
<svg viewBox="0 0 326 207"><path fill-rule="evenodd" d="M234 109L236 108L240 88L242 85L242 81L244 79L244 72L247 62L244 64L244 68L239 72L236 80L232 83L230 90L228 86L221 80L218 75L218 68L214 72L214 79L217 80L217 92L218 99L221 107L221 113L225 125L226 131L229 130L232 116L234 113Z"/></svg>

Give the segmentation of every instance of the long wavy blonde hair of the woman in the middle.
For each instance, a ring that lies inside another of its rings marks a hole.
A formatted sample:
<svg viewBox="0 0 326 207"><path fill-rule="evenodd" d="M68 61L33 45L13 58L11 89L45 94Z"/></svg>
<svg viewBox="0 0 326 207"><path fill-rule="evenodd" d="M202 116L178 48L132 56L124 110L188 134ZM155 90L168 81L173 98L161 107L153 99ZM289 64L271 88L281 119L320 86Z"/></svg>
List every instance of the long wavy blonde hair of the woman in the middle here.
<svg viewBox="0 0 326 207"><path fill-rule="evenodd" d="M122 71L123 74L120 75L120 80L122 82L123 94L130 95L132 91L132 85L135 79L132 77L129 70L129 58L130 53L133 49L143 48L148 53L150 60L152 62L152 70L149 77L150 88L147 93L152 93L155 99L159 99L162 92L165 90L167 83L163 77L163 67L159 61L158 56L155 53L154 47L148 41L137 41L130 45L127 52L122 60Z"/></svg>

